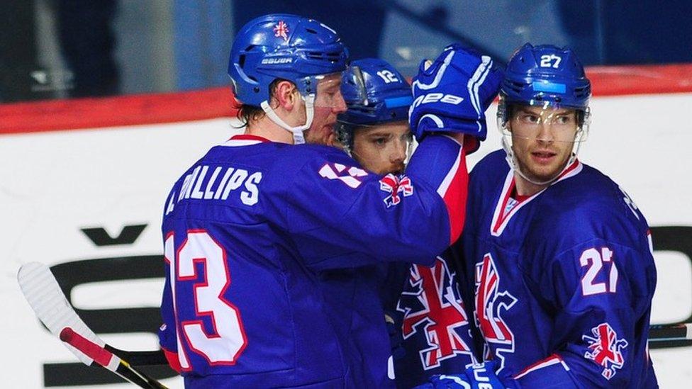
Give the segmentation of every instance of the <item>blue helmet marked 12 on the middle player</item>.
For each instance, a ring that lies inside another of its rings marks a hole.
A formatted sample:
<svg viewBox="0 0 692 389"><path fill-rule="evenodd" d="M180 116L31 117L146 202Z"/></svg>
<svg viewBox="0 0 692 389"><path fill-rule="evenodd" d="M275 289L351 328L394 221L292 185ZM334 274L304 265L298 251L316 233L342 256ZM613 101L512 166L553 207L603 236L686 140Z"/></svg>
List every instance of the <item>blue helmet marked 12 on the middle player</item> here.
<svg viewBox="0 0 692 389"><path fill-rule="evenodd" d="M389 62L364 58L351 62L341 81L347 111L337 117L337 138L347 152L356 128L408 120L411 86Z"/></svg>

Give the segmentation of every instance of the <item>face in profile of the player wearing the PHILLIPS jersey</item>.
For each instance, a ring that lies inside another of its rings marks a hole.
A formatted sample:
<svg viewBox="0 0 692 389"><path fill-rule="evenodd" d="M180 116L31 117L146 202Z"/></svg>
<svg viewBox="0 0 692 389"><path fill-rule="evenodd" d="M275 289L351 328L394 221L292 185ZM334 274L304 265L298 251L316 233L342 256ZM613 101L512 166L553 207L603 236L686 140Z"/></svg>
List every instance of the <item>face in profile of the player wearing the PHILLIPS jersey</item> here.
<svg viewBox="0 0 692 389"><path fill-rule="evenodd" d="M328 74L317 84L313 123L305 132L306 143L333 144L336 115L345 111L346 103L341 95L341 73Z"/></svg>

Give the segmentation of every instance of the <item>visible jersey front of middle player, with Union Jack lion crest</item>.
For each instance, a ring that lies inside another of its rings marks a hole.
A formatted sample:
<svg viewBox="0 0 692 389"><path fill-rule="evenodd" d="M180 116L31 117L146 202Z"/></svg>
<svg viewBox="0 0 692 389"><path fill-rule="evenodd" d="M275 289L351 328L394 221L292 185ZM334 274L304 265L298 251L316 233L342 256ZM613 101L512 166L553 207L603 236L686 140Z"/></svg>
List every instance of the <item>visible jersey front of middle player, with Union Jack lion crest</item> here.
<svg viewBox="0 0 692 389"><path fill-rule="evenodd" d="M469 325L473 316L464 307L455 265L445 256L437 256L432 266L390 265L385 295L396 295L385 306L398 329L394 346L401 348L394 354L397 388L459 373L476 361Z"/></svg>

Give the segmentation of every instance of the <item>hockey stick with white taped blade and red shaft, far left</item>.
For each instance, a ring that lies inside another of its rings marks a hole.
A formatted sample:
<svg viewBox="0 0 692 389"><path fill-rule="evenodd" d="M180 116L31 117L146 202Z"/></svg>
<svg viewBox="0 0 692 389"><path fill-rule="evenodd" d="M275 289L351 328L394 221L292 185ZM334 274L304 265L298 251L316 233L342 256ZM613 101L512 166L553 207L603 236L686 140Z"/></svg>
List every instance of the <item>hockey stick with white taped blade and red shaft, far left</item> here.
<svg viewBox="0 0 692 389"><path fill-rule="evenodd" d="M99 363L142 388L166 388L157 380L135 369L121 357L114 355L132 353L118 353L120 350L108 346L86 326L77 312L74 312L72 305L69 305L48 266L39 262L24 264L19 269L17 280L38 320L52 334L65 342L67 349L72 351L79 361L87 366L91 366L94 362Z"/></svg>

